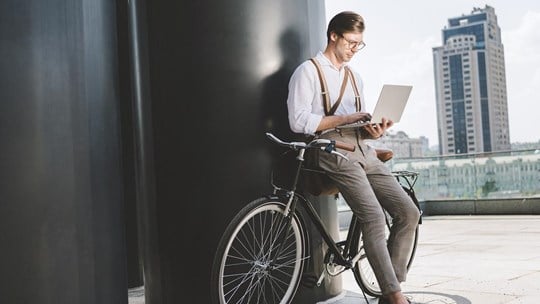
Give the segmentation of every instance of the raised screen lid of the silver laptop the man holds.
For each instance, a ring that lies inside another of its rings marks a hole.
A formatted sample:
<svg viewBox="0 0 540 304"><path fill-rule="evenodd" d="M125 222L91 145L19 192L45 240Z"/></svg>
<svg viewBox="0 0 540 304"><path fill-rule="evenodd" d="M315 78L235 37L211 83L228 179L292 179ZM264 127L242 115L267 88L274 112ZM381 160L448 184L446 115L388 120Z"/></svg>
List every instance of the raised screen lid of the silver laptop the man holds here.
<svg viewBox="0 0 540 304"><path fill-rule="evenodd" d="M411 90L411 85L383 85L370 122L380 123L383 117L394 123L399 122L407 100L409 100L409 95L411 95Z"/></svg>

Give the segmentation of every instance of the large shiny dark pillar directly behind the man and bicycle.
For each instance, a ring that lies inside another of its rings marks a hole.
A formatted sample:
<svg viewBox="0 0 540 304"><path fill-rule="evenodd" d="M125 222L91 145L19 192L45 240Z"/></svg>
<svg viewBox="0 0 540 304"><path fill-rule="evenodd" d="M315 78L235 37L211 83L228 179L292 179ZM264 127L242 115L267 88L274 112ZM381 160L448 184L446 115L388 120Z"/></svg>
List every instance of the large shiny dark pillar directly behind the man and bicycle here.
<svg viewBox="0 0 540 304"><path fill-rule="evenodd" d="M146 303L209 303L221 233L271 191L264 132L290 136L287 84L324 46L323 1L131 5Z"/></svg>

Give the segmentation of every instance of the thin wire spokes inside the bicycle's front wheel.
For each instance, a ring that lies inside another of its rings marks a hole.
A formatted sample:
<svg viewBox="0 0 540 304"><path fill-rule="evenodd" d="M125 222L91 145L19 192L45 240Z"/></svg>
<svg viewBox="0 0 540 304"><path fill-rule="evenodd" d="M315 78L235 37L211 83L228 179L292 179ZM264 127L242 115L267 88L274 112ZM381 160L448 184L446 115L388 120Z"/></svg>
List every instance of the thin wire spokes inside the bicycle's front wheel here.
<svg viewBox="0 0 540 304"><path fill-rule="evenodd" d="M298 280L305 258L298 250L298 228L283 219L275 210L259 212L233 235L222 264L225 303L274 304L292 294L291 282Z"/></svg>

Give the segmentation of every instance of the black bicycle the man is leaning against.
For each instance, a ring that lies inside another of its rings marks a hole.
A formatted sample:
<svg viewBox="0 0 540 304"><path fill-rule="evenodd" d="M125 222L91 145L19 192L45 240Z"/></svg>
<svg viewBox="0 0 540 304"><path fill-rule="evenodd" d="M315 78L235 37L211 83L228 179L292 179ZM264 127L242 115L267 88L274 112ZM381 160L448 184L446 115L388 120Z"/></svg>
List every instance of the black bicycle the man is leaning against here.
<svg viewBox="0 0 540 304"><path fill-rule="evenodd" d="M360 224L352 216L346 240L335 241L326 231L312 203L297 191L304 170L304 153L307 149L322 151L346 158L336 148L354 151L354 146L328 139L310 142L284 142L266 133L274 143L297 152L296 167L290 189L277 186L272 178L274 191L248 203L231 220L223 233L212 265L212 297L216 304L231 303L290 303L301 281L308 235L305 216L298 210L302 205L308 219L320 232L328 250L324 257L325 269L317 281L320 286L326 275L336 276L352 270L364 293L381 296L381 290L369 265L362 246ZM414 193L418 173L399 171L393 173L402 183L420 209ZM382 208L382 206L381 206ZM387 228L391 217L387 212ZM421 221L419 222L419 224ZM387 229L387 230L388 230ZM418 242L418 226L410 252L410 267ZM387 233L388 237L388 233Z"/></svg>

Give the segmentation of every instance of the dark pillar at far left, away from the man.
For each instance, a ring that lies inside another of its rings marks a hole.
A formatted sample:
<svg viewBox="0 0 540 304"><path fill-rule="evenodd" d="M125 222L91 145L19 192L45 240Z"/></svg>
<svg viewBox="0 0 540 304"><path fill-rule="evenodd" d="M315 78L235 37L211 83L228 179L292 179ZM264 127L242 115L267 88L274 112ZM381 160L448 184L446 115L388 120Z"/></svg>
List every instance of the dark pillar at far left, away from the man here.
<svg viewBox="0 0 540 304"><path fill-rule="evenodd" d="M116 7L0 4L0 303L127 303Z"/></svg>

